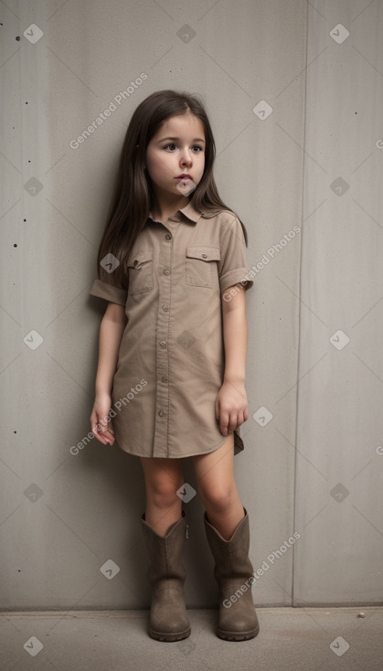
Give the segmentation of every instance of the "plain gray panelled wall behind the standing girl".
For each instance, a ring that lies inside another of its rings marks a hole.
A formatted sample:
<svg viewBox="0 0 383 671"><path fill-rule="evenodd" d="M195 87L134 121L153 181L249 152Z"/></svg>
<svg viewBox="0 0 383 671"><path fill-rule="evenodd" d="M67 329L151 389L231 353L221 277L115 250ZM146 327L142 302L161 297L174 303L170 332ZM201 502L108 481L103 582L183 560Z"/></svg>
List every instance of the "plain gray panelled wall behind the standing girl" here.
<svg viewBox="0 0 383 671"><path fill-rule="evenodd" d="M149 604L138 459L70 448L90 431L104 304L89 290L118 154L164 88L203 96L257 269L235 458L255 600L381 602L382 3L8 0L0 14L2 607ZM187 603L210 606L203 507L184 508Z"/></svg>

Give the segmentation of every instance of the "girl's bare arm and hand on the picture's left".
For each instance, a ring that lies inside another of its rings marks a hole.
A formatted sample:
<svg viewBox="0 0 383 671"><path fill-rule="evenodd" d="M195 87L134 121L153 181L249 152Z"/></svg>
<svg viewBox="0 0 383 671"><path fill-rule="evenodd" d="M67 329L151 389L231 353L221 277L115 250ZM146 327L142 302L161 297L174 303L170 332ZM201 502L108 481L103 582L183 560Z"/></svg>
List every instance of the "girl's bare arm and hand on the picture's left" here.
<svg viewBox="0 0 383 671"><path fill-rule="evenodd" d="M99 365L96 374L96 398L90 415L91 431L104 445L113 444L114 436L105 419L112 405L112 381L117 366L123 330L126 325L125 307L108 303L101 319Z"/></svg>

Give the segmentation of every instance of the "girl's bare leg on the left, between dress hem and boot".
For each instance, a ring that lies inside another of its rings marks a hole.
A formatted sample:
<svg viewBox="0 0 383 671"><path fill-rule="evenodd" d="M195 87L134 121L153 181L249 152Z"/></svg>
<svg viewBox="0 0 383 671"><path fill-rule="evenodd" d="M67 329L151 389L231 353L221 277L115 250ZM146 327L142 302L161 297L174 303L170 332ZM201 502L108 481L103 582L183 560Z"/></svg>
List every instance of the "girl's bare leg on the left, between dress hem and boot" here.
<svg viewBox="0 0 383 671"><path fill-rule="evenodd" d="M182 515L182 500L176 495L184 483L180 459L141 457L146 490L145 521L160 534Z"/></svg>

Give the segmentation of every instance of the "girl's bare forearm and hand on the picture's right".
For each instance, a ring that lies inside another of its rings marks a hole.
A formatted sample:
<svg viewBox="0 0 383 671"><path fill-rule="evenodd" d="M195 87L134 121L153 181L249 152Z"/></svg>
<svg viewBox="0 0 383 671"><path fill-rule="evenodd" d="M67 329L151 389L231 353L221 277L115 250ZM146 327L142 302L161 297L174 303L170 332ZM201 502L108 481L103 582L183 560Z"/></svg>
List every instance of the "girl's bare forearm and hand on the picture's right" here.
<svg viewBox="0 0 383 671"><path fill-rule="evenodd" d="M224 436L232 433L249 416L245 389L248 343L245 293L243 286L237 285L235 292L230 293L229 287L223 293L230 300L222 298L225 373L216 400L216 416Z"/></svg>

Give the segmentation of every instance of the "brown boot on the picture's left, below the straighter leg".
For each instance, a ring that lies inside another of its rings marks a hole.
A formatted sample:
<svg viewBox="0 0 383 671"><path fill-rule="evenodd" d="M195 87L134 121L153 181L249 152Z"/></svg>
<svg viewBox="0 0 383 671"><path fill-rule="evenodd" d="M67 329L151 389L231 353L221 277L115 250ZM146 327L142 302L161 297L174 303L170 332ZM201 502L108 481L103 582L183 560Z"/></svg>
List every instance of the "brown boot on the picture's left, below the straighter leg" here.
<svg viewBox="0 0 383 671"><path fill-rule="evenodd" d="M191 631L186 615L186 570L182 558L186 531L185 511L167 529L165 536L154 531L145 521L145 515L141 521L150 558L147 575L152 585L149 635L157 641L181 641Z"/></svg>

